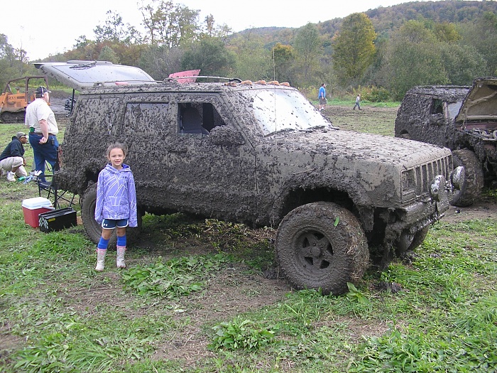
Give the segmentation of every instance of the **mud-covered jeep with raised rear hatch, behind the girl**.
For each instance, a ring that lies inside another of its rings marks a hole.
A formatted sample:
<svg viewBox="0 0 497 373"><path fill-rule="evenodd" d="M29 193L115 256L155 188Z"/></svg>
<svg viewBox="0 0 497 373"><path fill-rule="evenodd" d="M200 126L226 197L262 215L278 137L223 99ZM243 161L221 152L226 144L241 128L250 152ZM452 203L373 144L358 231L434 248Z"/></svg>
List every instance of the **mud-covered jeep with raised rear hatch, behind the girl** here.
<svg viewBox="0 0 497 373"><path fill-rule="evenodd" d="M452 170L449 149L339 131L292 87L133 77L87 87L79 73L98 76L109 66L76 65L40 68L80 90L58 183L83 196L94 242L101 230L95 182L114 141L129 146L142 214L278 227L275 251L289 283L323 293L343 293L361 279L370 255L386 265L417 247L448 208L449 180L464 177L464 169ZM113 68L121 79L121 67Z"/></svg>

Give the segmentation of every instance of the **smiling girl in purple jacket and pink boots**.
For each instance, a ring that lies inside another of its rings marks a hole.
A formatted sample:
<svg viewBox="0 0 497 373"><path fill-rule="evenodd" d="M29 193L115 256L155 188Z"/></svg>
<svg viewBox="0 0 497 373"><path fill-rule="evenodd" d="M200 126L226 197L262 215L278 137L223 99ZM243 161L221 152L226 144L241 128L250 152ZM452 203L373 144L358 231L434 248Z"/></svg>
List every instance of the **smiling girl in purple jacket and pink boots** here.
<svg viewBox="0 0 497 373"><path fill-rule="evenodd" d="M97 266L103 271L105 254L112 231L117 228L117 268L126 268L126 227L136 227L136 191L131 168L124 164L127 148L124 144L112 144L107 148L110 163L100 171L97 182L97 205L95 220L102 224L102 237L97 245Z"/></svg>

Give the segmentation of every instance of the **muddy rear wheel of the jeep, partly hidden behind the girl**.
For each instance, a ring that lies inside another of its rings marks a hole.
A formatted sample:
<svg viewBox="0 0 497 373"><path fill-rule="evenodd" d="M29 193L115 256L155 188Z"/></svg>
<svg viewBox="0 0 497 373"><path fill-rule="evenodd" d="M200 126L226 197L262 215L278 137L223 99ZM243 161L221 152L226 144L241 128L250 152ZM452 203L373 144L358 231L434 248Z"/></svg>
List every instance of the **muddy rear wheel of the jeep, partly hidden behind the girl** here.
<svg viewBox="0 0 497 373"><path fill-rule="evenodd" d="M81 217L83 220L84 230L87 232L89 239L98 244L100 237L102 236L102 226L95 220L95 205L97 204L97 184L89 185L87 190L85 190L82 205L81 205ZM126 241L128 244L135 242L141 231L141 217L143 212L138 209L138 227L126 229ZM116 230L112 233L111 239L109 241L109 249L116 246Z"/></svg>

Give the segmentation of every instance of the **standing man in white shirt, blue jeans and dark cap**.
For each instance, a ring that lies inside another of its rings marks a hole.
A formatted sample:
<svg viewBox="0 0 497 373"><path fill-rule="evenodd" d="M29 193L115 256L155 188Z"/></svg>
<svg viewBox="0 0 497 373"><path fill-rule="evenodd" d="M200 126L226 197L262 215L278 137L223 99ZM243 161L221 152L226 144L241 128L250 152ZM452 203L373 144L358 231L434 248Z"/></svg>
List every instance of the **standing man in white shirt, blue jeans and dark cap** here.
<svg viewBox="0 0 497 373"><path fill-rule="evenodd" d="M35 171L41 171L40 180L45 182L45 161L50 166L57 162L59 143L57 134L59 128L55 121L55 114L48 106L50 91L45 87L38 87L35 91L35 100L26 107L24 124L29 127L29 144L33 147L35 156Z"/></svg>

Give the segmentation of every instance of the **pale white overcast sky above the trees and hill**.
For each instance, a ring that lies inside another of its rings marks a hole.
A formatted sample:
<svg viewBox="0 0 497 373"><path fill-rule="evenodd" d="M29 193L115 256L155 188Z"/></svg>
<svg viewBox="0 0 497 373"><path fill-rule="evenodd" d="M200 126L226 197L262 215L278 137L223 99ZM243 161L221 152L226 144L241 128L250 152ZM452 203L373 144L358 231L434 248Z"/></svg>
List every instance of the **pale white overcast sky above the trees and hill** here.
<svg viewBox="0 0 497 373"><path fill-rule="evenodd" d="M148 0L143 0L148 4ZM300 27L351 13L392 6L405 0L178 0L190 9L200 10L200 21L212 14L217 24L226 23L234 32L252 27ZM142 0L3 0L0 33L14 48L23 48L30 60L71 50L82 35L94 40L95 26L104 25L106 13L118 13L124 23L142 30Z"/></svg>

